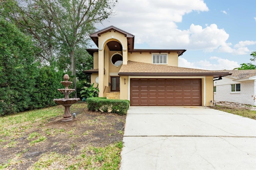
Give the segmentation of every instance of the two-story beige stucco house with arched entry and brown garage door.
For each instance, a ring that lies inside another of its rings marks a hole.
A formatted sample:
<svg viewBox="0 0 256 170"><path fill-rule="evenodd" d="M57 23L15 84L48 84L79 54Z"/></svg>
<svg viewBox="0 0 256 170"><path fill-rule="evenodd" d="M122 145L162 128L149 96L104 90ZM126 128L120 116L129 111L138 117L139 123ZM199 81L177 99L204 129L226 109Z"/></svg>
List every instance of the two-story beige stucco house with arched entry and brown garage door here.
<svg viewBox="0 0 256 170"><path fill-rule="evenodd" d="M230 75L178 67L185 49L134 49L134 35L110 26L90 35L98 49L93 56L91 83L99 97L130 100L131 106L209 106L213 79Z"/></svg>

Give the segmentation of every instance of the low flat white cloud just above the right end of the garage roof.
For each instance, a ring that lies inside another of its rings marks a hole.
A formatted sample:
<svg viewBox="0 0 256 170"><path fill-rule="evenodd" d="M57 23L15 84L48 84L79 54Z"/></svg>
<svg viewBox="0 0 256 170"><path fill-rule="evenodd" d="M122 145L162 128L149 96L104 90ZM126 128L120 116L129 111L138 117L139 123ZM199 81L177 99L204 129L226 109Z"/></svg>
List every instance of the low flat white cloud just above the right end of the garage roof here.
<svg viewBox="0 0 256 170"><path fill-rule="evenodd" d="M210 61L209 61L210 60ZM196 62L189 62L188 60L179 57L179 67L205 69L205 70L232 70L240 67L236 61L230 61L220 57L210 57L209 60L200 60Z"/></svg>

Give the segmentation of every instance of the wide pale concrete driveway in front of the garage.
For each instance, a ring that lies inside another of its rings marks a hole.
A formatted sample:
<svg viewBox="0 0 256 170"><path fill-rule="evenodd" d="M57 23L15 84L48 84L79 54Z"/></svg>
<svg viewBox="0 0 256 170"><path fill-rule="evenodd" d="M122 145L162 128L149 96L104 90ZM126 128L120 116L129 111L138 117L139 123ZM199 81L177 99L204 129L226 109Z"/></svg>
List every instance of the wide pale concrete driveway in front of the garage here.
<svg viewBox="0 0 256 170"><path fill-rule="evenodd" d="M256 120L207 107L130 107L121 170L256 170Z"/></svg>

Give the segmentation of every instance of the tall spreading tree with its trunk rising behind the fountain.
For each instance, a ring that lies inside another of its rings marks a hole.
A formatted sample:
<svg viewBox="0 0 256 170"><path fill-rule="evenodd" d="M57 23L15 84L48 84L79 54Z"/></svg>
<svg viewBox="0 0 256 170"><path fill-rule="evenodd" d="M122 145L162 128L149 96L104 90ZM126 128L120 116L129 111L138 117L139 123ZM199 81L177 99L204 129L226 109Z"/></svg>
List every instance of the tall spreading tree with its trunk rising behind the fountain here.
<svg viewBox="0 0 256 170"><path fill-rule="evenodd" d="M64 53L76 89L76 48L88 47L94 25L113 14L117 0L8 0L1 15L34 38L38 60L53 63ZM63 55L62 55L63 56Z"/></svg>

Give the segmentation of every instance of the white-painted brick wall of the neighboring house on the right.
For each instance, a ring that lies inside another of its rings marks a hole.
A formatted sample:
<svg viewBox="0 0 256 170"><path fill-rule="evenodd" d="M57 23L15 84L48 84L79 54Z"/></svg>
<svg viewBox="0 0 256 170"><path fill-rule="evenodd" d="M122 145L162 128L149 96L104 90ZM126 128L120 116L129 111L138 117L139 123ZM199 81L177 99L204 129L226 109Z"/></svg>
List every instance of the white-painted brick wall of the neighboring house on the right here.
<svg viewBox="0 0 256 170"><path fill-rule="evenodd" d="M236 82L239 83L239 82ZM234 82L233 82L234 84ZM240 92L231 92L231 85L217 85L216 93L214 93L214 101L227 101L234 103L242 103L248 105L256 105L254 100L255 97L255 82L246 81L240 82L241 91Z"/></svg>

